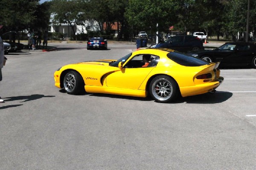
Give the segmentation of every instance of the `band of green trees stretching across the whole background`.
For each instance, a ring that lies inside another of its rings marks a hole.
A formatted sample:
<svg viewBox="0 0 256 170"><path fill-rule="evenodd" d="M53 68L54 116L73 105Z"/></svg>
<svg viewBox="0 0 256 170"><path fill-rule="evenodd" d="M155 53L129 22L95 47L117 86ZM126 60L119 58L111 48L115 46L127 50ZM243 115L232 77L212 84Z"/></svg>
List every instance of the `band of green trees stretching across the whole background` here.
<svg viewBox="0 0 256 170"><path fill-rule="evenodd" d="M169 32L170 26L181 32L235 35L246 30L247 3L247 0L51 0L40 4L39 0L0 0L0 25L4 25L0 34L11 30L47 30L53 13L53 21L69 24L73 35L74 25L81 25L81 21L98 21L100 32L76 37L81 40L96 35L111 39L111 28L116 22L118 38L126 40L139 31ZM254 18L256 0L250 0L249 30L256 33Z"/></svg>

